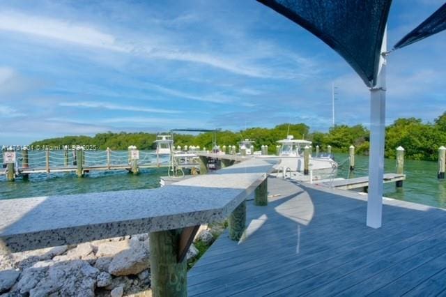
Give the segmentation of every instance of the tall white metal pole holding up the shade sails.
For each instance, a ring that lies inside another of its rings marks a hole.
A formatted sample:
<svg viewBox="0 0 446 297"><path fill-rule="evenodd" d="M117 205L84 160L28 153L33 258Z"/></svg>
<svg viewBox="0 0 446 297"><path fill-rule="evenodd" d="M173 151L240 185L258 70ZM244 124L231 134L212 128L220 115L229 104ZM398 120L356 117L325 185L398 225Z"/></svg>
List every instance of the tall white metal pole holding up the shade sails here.
<svg viewBox="0 0 446 297"><path fill-rule="evenodd" d="M387 51L387 28L378 68L376 86L370 96L370 157L369 157L369 198L367 201L367 226L379 228L383 217L383 174L385 141L385 68Z"/></svg>

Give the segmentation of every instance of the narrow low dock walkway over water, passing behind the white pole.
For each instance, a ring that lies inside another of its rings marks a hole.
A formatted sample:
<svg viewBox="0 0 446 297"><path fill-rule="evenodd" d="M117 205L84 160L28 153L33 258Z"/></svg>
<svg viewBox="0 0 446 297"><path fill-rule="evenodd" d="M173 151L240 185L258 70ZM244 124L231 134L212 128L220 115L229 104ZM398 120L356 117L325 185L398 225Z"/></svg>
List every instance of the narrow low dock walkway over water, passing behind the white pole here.
<svg viewBox="0 0 446 297"><path fill-rule="evenodd" d="M405 181L406 174L387 173L383 176L383 183L397 183L398 181ZM353 190L359 188L369 187L369 176L361 176L355 178L339 178L333 181L314 181L318 185L324 185L329 188L337 188L341 190Z"/></svg>

